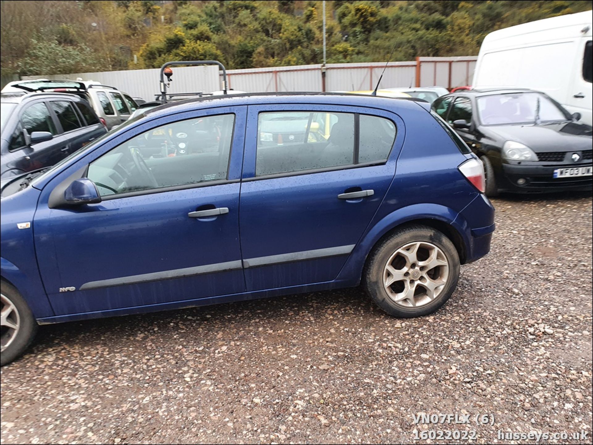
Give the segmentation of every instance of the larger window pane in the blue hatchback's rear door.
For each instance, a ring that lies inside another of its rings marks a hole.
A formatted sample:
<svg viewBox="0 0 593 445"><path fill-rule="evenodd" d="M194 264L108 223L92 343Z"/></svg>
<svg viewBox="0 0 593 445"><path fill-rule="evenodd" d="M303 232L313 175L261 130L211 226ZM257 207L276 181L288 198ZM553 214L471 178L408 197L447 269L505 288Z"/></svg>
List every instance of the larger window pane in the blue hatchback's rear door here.
<svg viewBox="0 0 593 445"><path fill-rule="evenodd" d="M354 114L260 113L256 176L354 163Z"/></svg>

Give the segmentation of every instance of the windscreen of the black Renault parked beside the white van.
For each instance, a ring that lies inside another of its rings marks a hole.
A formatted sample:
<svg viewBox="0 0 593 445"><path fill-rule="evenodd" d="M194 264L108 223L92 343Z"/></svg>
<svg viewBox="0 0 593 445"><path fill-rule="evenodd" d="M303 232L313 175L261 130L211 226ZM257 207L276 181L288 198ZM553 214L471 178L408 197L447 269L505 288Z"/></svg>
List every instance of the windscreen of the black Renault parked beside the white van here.
<svg viewBox="0 0 593 445"><path fill-rule="evenodd" d="M477 108L484 125L533 124L570 120L568 112L539 92L479 97Z"/></svg>

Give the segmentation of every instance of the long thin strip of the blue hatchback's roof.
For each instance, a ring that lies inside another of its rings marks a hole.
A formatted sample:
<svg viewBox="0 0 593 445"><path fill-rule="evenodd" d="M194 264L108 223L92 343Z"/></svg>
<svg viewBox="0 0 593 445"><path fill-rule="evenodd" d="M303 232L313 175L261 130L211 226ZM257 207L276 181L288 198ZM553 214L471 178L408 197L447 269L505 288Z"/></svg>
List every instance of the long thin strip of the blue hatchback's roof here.
<svg viewBox="0 0 593 445"><path fill-rule="evenodd" d="M207 96L162 104L145 111L145 116L167 115L195 110L196 108L234 107L240 105L265 104L320 104L346 105L390 109L397 100L397 106L416 110L418 106L425 108L428 104L422 99L413 97L381 97L368 94L336 93L336 92L262 92L248 94L228 94L221 96Z"/></svg>

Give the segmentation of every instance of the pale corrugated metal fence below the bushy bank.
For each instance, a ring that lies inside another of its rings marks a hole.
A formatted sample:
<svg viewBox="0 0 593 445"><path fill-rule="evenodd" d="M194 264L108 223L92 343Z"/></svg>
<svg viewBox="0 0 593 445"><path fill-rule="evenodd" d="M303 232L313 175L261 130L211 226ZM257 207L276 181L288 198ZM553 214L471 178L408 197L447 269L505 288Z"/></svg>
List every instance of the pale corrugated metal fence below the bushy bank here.
<svg viewBox="0 0 593 445"><path fill-rule="evenodd" d="M390 62L381 88L431 87L448 89L469 85L477 57L417 57L413 62ZM359 91L374 89L385 64L329 63L322 65L277 66L274 68L227 71L229 88L247 92L273 91ZM174 68L168 92L211 92L221 89L215 66ZM133 97L151 100L159 91L159 69L137 69L67 75L29 76L26 79L82 78L113 85ZM24 78L25 79L25 78Z"/></svg>

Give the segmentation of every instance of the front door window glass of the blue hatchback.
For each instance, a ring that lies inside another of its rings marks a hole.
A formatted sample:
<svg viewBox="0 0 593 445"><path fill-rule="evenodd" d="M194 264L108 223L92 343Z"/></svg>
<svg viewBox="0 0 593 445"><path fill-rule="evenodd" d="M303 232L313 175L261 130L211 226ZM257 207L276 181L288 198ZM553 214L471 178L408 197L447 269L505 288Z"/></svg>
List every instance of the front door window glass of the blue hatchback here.
<svg viewBox="0 0 593 445"><path fill-rule="evenodd" d="M227 179L234 114L166 124L91 162L101 196Z"/></svg>

